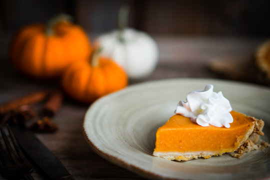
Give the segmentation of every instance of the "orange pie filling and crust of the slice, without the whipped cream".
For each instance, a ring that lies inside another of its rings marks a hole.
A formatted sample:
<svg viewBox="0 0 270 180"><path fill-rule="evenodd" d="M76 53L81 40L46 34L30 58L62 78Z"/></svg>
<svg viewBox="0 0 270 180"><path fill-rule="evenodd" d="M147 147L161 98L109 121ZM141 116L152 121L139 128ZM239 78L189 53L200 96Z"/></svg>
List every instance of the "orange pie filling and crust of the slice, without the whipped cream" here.
<svg viewBox="0 0 270 180"><path fill-rule="evenodd" d="M258 144L263 135L264 122L236 111L230 111L233 122L229 128L201 126L189 117L175 114L156 132L154 156L169 160L189 160L234 152L240 158L243 152L267 146Z"/></svg>

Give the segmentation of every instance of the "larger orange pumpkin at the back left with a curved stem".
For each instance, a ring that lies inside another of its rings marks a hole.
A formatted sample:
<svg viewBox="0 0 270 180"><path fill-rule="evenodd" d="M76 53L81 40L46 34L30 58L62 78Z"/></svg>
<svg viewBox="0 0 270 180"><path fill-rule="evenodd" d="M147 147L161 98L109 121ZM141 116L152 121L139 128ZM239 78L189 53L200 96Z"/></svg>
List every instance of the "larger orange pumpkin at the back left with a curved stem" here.
<svg viewBox="0 0 270 180"><path fill-rule="evenodd" d="M13 66L37 78L59 76L72 61L88 58L91 45L84 30L61 15L44 24L23 27L14 36L9 56Z"/></svg>

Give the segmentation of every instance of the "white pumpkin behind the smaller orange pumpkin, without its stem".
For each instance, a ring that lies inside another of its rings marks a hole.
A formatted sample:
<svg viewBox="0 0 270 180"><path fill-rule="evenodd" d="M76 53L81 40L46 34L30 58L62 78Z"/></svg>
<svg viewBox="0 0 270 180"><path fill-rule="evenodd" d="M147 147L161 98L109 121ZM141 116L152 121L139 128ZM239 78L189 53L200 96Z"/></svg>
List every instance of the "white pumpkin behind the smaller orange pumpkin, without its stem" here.
<svg viewBox="0 0 270 180"><path fill-rule="evenodd" d="M101 47L101 55L111 57L131 79L150 75L158 60L158 47L154 39L132 28L101 35L94 43Z"/></svg>

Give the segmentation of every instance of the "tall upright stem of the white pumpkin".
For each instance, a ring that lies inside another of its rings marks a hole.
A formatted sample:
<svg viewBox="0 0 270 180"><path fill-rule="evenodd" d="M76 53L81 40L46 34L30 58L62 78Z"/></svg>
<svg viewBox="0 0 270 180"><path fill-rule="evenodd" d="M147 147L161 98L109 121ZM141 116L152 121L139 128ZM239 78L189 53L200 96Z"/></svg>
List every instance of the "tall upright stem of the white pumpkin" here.
<svg viewBox="0 0 270 180"><path fill-rule="evenodd" d="M128 14L129 14L129 6L126 4L121 5L118 12L118 30L119 30L118 39L121 42L124 42L123 32L128 25Z"/></svg>

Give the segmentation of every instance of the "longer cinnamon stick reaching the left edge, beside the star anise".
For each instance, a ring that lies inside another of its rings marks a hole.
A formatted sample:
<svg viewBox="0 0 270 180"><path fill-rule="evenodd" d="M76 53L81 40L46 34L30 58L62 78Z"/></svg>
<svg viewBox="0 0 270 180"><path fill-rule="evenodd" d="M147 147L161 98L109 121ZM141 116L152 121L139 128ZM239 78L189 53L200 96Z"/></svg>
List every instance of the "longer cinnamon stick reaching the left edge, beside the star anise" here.
<svg viewBox="0 0 270 180"><path fill-rule="evenodd" d="M49 92L48 90L41 90L6 102L0 105L0 114L4 114L8 111L14 110L25 104L31 104L41 101L47 96L48 92Z"/></svg>

